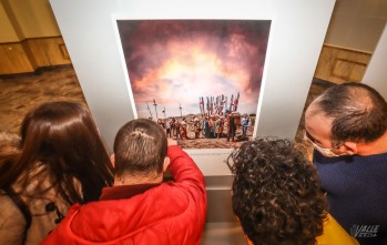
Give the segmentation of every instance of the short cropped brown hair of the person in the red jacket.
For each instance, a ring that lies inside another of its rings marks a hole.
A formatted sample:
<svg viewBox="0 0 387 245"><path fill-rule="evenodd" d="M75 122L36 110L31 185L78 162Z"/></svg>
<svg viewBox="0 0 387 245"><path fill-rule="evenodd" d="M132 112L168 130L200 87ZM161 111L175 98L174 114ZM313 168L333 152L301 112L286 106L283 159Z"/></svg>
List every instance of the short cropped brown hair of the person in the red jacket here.
<svg viewBox="0 0 387 245"><path fill-rule="evenodd" d="M157 123L147 119L130 121L114 140L115 175L160 174L166 152L166 134Z"/></svg>

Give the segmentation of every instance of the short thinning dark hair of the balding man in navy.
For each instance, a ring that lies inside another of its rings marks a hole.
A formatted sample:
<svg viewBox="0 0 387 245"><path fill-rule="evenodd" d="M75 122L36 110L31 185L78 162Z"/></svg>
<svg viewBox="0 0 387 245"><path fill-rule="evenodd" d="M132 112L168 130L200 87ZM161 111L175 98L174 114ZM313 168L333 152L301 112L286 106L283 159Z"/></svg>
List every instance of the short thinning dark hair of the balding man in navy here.
<svg viewBox="0 0 387 245"><path fill-rule="evenodd" d="M334 142L369 143L387 130L387 103L366 84L350 82L333 85L316 100L315 105L333 118Z"/></svg>

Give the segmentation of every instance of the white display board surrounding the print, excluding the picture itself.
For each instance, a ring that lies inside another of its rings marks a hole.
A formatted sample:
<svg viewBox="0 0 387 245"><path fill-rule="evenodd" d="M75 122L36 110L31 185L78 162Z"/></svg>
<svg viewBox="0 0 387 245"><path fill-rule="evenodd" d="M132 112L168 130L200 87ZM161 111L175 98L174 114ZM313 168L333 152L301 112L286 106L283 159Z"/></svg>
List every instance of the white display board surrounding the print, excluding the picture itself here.
<svg viewBox="0 0 387 245"><path fill-rule="evenodd" d="M112 149L135 118L116 19L272 20L254 132L294 139L335 0L50 0L93 118ZM230 175L231 150L191 150L204 175Z"/></svg>

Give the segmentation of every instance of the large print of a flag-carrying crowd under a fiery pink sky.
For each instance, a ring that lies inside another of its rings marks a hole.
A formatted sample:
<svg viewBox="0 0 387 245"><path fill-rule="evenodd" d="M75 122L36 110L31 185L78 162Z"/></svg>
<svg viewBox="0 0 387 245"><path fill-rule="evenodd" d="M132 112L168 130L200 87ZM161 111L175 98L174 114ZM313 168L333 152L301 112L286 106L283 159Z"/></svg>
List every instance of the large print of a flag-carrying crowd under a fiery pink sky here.
<svg viewBox="0 0 387 245"><path fill-rule="evenodd" d="M134 114L184 149L252 140L269 20L118 20Z"/></svg>

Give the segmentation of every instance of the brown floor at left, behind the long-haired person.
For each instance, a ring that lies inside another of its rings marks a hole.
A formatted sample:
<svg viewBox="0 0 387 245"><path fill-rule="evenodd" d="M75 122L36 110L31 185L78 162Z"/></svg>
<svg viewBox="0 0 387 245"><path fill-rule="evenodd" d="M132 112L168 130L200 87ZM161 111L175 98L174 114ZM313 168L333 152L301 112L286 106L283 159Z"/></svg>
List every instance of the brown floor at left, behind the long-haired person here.
<svg viewBox="0 0 387 245"><path fill-rule="evenodd" d="M85 100L71 67L0 79L0 132L19 133L24 114L42 102Z"/></svg>

